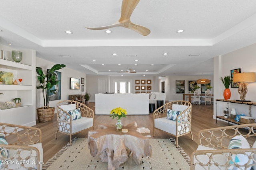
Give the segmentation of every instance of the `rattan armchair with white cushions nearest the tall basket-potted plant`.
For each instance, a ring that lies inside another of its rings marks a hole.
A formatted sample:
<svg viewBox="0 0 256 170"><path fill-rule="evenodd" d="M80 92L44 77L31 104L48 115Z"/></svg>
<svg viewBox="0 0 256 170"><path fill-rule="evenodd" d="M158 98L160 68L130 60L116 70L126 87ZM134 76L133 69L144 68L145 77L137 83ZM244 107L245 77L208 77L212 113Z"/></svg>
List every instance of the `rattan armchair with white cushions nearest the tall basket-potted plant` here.
<svg viewBox="0 0 256 170"><path fill-rule="evenodd" d="M68 110L62 107L63 105L75 104L75 109L80 108L81 118L71 120L71 115L67 112ZM70 145L72 135L79 133L80 131L88 128L94 129L94 111L87 107L85 104L74 100L65 100L57 103L57 131L55 139L57 139L58 131L70 136Z"/></svg>

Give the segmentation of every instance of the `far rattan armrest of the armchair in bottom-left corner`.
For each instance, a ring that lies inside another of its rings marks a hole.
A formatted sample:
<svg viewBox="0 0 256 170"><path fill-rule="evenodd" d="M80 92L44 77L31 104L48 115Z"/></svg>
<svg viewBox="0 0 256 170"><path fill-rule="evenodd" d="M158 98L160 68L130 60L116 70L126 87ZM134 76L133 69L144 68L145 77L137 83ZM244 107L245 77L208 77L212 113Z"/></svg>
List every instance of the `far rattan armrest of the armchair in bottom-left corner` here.
<svg viewBox="0 0 256 170"><path fill-rule="evenodd" d="M36 127L0 123L0 133L4 134L10 145L42 143L42 131Z"/></svg>

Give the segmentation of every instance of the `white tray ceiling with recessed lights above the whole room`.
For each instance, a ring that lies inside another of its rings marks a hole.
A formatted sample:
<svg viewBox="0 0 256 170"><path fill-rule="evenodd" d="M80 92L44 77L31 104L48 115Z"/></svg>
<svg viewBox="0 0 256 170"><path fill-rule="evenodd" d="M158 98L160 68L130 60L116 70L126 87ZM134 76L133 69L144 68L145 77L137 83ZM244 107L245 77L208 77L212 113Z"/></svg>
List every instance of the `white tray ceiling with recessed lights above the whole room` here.
<svg viewBox="0 0 256 170"><path fill-rule="evenodd" d="M150 29L149 35L124 27L110 34L85 28L115 23L121 5L122 0L1 0L0 43L34 49L37 57L79 72L111 76L213 75L213 57L256 43L256 0L140 0L130 19ZM127 68L137 73L117 73Z"/></svg>

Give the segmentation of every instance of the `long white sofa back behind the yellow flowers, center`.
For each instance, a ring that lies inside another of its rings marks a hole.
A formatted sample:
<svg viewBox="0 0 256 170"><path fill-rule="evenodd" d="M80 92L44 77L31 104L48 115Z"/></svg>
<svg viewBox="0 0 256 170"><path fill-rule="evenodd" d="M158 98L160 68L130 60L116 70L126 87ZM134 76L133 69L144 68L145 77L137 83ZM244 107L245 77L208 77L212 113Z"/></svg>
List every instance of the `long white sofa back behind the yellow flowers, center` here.
<svg viewBox="0 0 256 170"><path fill-rule="evenodd" d="M148 115L149 95L140 94L95 94L95 115L110 115L116 107L126 109L127 115Z"/></svg>

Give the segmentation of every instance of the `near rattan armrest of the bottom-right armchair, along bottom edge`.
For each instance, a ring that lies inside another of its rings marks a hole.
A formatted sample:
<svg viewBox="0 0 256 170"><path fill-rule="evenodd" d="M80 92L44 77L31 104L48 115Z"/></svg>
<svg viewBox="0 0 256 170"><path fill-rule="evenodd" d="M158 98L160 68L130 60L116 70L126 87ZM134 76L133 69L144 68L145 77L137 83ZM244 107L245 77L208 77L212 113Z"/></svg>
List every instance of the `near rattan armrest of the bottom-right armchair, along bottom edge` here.
<svg viewBox="0 0 256 170"><path fill-rule="evenodd" d="M231 161L235 162L234 154L244 154L244 156L247 156L247 158L249 160L248 163L245 165L239 165L236 163L230 164ZM196 170L196 169L198 169L198 166L200 166L200 167L202 166L205 169L208 169L207 166L216 166L216 165L218 166L218 168L220 168L220 167L226 168L230 165L235 165L236 167L240 167L240 168L255 166L256 164L254 163L255 160L253 158L254 156L256 156L255 154L256 154L256 148L196 150L196 151L192 152L192 154L191 154L190 170ZM219 162L220 157L221 157L221 160L223 161L222 163ZM226 162L225 162L225 159L226 159ZM242 169L244 169L244 168L242 168Z"/></svg>

